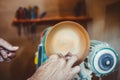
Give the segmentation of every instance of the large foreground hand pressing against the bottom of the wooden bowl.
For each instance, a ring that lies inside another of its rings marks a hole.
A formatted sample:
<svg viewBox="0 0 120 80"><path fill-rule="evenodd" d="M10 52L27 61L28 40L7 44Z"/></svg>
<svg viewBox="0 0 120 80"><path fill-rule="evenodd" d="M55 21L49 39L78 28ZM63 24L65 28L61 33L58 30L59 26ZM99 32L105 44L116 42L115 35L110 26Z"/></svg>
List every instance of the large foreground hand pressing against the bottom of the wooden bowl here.
<svg viewBox="0 0 120 80"><path fill-rule="evenodd" d="M76 56L66 60L65 57L52 55L28 80L71 80L80 71L79 66L73 67L76 61Z"/></svg>

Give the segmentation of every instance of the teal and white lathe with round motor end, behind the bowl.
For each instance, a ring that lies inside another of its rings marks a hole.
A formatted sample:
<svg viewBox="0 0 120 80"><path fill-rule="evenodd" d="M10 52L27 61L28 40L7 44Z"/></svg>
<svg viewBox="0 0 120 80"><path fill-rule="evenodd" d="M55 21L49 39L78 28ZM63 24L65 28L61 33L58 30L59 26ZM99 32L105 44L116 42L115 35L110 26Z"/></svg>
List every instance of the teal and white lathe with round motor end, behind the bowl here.
<svg viewBox="0 0 120 80"><path fill-rule="evenodd" d="M45 50L45 40L49 33L50 28L45 30L45 34L42 38L41 43L38 46L38 64L39 67L44 63L48 57ZM91 40L89 55L86 58L88 61L83 61L80 64L81 71L79 74L79 80L91 80L92 73L96 76L101 77L110 74L116 68L118 64L118 54L109 44ZM86 68L87 64L87 68ZM86 73L86 71L89 71ZM78 79L75 79L78 80Z"/></svg>

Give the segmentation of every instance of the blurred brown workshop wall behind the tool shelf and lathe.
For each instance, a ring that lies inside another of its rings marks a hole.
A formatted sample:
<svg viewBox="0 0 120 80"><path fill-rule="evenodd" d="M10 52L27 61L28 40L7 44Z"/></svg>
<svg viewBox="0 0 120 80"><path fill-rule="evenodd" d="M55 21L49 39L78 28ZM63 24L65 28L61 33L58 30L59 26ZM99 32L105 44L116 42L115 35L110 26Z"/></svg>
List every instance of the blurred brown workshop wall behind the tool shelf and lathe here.
<svg viewBox="0 0 120 80"><path fill-rule="evenodd" d="M35 72L34 57L40 43L40 33L50 26L48 24L35 25L34 31L29 33L21 31L19 35L17 28L19 26L13 25L17 9L20 6L38 6L38 14L46 12L45 17L76 16L75 6L79 1L0 0L0 37L20 47L13 61L0 63L0 80L26 80ZM86 11L80 16L86 15L91 18L86 23L90 39L108 42L120 54L120 0L81 1L85 2ZM98 80L98 78L95 77L93 80ZM120 80L119 67L112 74L105 76L103 80Z"/></svg>

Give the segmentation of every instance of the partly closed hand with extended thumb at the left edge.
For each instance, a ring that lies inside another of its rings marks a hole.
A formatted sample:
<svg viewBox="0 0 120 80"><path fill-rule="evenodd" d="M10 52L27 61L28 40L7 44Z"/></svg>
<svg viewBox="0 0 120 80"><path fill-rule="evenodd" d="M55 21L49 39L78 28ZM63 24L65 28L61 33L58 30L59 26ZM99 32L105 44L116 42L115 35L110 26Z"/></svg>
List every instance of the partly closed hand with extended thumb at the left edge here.
<svg viewBox="0 0 120 80"><path fill-rule="evenodd" d="M11 61L11 59L15 57L15 51L17 51L18 48L19 47L12 46L10 43L0 38L0 62Z"/></svg>

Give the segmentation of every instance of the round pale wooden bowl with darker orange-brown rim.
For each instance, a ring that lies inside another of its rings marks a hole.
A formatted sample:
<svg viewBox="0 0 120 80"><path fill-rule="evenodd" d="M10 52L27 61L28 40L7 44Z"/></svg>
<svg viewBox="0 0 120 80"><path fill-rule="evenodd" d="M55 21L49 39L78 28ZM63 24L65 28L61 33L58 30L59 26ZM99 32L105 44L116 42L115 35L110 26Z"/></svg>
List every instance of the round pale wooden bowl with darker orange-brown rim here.
<svg viewBox="0 0 120 80"><path fill-rule="evenodd" d="M54 25L45 41L47 56L52 54L65 56L70 52L78 57L79 63L87 57L89 47L90 39L87 31L82 25L72 21L63 21Z"/></svg>

